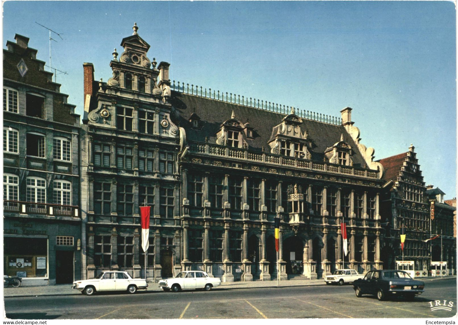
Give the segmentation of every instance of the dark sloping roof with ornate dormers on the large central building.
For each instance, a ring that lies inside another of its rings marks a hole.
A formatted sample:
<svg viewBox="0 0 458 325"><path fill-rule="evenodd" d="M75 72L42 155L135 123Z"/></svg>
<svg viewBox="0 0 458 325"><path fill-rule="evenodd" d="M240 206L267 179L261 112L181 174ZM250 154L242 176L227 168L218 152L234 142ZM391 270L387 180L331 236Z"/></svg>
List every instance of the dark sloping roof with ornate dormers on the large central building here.
<svg viewBox="0 0 458 325"><path fill-rule="evenodd" d="M205 142L207 137L209 143L216 143L216 133L221 128L221 124L229 120L232 111L234 111L236 120L243 124L250 123L249 126L253 128L254 138L248 139L248 143L251 150L258 151L261 151L262 147L264 147L266 152L270 152L268 142L271 138L272 130L285 117L284 114L276 112L175 91L172 91L170 101L178 112L174 117L178 120L180 127L185 128L188 140ZM198 129L192 128L191 123L188 121L193 113L196 113L201 119L201 127ZM300 126L302 132L306 131L308 139L312 140L312 160L323 161L324 151L338 143L343 134L344 141L349 143L353 149L353 165L366 167L364 158L357 149L356 143L354 143L343 126L305 118L302 118L302 121L303 124Z"/></svg>

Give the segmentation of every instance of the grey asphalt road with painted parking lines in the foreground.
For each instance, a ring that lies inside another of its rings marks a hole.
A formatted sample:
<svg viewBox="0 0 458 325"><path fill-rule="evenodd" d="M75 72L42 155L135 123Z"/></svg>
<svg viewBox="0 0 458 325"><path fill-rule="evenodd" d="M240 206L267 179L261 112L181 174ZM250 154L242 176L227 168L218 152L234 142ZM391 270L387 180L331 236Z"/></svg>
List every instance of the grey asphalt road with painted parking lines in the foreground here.
<svg viewBox="0 0 458 325"><path fill-rule="evenodd" d="M96 296L6 297L9 319L290 319L453 317L456 279L425 281L413 302L358 298L353 286L289 286L98 294ZM431 305L453 302L452 311Z"/></svg>

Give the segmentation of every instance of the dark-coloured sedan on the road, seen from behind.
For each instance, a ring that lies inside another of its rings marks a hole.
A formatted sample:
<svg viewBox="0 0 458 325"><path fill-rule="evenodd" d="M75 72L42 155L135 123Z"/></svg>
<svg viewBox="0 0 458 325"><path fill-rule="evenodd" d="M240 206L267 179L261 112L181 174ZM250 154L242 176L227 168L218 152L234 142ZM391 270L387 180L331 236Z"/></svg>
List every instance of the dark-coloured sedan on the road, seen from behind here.
<svg viewBox="0 0 458 325"><path fill-rule="evenodd" d="M376 295L378 300L386 297L403 296L414 300L425 290L425 282L414 280L409 273L401 270L373 270L366 273L365 277L353 282L356 297L363 294Z"/></svg>

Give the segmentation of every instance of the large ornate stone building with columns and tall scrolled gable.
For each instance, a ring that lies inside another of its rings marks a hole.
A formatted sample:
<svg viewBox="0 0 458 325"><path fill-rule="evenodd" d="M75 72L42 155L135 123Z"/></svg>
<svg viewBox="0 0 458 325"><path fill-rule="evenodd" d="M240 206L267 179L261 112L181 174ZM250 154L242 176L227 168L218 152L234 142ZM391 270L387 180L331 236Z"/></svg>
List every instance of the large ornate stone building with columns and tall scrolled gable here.
<svg viewBox="0 0 458 325"><path fill-rule="evenodd" d="M148 280L180 270L223 281L319 278L343 260L360 272L382 267L383 167L360 143L351 108L334 118L172 83L169 64L151 61L133 29L109 80L84 64L83 277L144 275L143 204L152 207Z"/></svg>

